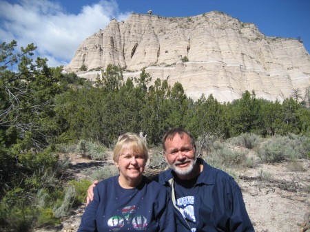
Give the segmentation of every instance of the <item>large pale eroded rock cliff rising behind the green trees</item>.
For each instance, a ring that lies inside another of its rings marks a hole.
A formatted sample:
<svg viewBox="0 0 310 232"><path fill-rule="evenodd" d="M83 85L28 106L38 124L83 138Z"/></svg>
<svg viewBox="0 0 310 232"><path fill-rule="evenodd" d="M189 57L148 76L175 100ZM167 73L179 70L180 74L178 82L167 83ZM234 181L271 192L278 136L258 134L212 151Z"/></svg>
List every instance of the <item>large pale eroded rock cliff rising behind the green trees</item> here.
<svg viewBox="0 0 310 232"><path fill-rule="evenodd" d="M188 62L183 62L185 56ZM246 90L254 90L258 98L282 101L293 89L304 94L310 85L310 56L300 41L265 36L253 23L222 12L113 19L81 43L65 70L78 72L81 65L88 70L105 68L110 63L130 71L125 77L138 76L147 67L152 81L178 81L187 96L213 94L220 102L240 98ZM79 76L96 78L96 72Z"/></svg>

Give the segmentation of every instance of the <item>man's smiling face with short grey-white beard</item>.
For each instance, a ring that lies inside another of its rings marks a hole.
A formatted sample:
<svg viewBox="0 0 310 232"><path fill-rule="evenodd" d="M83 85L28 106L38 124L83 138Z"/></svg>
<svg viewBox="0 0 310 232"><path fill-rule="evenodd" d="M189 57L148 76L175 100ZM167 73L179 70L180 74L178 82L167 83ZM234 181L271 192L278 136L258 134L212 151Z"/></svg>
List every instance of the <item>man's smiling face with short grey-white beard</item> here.
<svg viewBox="0 0 310 232"><path fill-rule="evenodd" d="M178 176L189 175L196 164L196 154L191 138L187 134L183 134L183 138L176 134L172 140L166 140L165 147L165 160L169 167Z"/></svg>

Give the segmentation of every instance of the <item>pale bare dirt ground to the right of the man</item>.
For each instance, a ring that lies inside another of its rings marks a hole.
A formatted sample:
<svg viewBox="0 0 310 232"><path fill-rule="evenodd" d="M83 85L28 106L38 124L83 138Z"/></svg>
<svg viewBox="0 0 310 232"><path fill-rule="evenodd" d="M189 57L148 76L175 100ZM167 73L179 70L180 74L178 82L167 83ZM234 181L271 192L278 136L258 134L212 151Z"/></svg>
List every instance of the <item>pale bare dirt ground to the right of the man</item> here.
<svg viewBox="0 0 310 232"><path fill-rule="evenodd" d="M289 165L259 165L247 170L246 176L259 176L262 170L272 173L271 180L239 181L249 217L258 232L300 231L304 215L310 212L310 162L300 160L304 171L288 171Z"/></svg>

